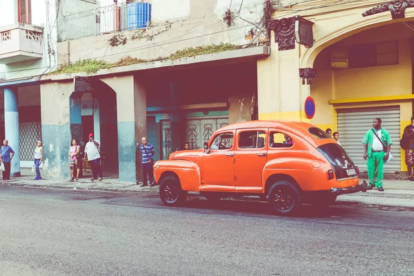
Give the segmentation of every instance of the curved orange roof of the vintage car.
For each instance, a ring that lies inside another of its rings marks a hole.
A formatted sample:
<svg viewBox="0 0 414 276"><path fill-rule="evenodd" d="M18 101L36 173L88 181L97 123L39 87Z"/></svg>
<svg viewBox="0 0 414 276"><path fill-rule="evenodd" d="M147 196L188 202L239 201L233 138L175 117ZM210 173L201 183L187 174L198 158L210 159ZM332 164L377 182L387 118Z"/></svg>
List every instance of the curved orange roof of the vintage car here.
<svg viewBox="0 0 414 276"><path fill-rule="evenodd" d="M310 142L315 148L322 146L323 144L335 143L335 140L329 138L317 139L313 137L308 129L309 128L318 128L313 124L306 123L304 121L288 121L288 120L277 120L277 121L243 121L236 124L230 124L219 128L217 131L226 131L226 130L239 130L239 129L248 129L248 128L278 128L279 130L286 130L292 132L295 135L303 137L308 142Z"/></svg>

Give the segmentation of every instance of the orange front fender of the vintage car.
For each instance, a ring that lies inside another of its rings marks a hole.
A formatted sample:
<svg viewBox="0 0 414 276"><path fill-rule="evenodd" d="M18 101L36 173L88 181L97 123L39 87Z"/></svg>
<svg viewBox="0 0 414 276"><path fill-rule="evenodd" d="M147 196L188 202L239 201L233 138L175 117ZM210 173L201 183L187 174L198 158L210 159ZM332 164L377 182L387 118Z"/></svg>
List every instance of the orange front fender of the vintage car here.
<svg viewBox="0 0 414 276"><path fill-rule="evenodd" d="M166 175L177 175L181 189L199 191L201 170L197 163L186 160L161 160L154 164L155 181L159 183Z"/></svg>

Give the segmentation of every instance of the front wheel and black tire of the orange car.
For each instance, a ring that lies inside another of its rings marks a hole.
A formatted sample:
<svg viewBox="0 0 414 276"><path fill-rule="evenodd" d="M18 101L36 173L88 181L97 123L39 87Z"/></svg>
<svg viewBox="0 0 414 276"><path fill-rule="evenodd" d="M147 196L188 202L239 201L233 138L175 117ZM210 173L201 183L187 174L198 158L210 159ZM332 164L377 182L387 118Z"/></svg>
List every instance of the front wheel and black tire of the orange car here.
<svg viewBox="0 0 414 276"><path fill-rule="evenodd" d="M159 197L167 206L176 206L186 201L187 193L181 190L177 177L169 176L162 179L159 184Z"/></svg>

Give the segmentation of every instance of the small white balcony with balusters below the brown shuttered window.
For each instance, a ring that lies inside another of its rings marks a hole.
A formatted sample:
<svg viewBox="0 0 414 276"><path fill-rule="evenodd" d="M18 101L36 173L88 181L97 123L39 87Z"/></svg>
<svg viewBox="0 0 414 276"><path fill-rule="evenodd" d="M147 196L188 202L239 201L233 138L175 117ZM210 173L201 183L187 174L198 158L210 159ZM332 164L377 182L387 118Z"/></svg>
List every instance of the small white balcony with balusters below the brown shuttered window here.
<svg viewBox="0 0 414 276"><path fill-rule="evenodd" d="M17 23L0 27L0 64L39 59L43 54L43 28Z"/></svg>

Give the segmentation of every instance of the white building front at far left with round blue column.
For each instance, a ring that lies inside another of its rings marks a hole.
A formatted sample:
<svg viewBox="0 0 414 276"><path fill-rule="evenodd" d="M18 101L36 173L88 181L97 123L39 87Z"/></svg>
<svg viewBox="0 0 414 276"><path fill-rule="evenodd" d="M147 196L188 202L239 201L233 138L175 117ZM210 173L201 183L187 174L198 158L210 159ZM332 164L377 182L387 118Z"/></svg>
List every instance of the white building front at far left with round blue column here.
<svg viewBox="0 0 414 276"><path fill-rule="evenodd" d="M12 176L32 167L41 139L39 79L57 68L55 1L8 0L0 10L0 139L16 152Z"/></svg>

